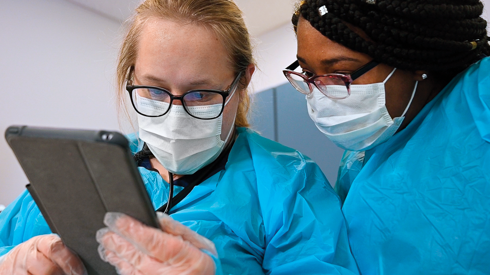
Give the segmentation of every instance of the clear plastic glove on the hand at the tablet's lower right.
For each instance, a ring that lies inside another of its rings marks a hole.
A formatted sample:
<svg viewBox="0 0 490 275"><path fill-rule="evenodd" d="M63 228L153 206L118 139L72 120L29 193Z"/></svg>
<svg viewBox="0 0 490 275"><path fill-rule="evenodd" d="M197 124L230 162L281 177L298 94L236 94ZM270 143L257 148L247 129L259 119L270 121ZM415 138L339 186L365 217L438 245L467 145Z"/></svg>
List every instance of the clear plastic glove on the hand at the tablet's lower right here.
<svg viewBox="0 0 490 275"><path fill-rule="evenodd" d="M214 274L214 244L168 215L157 213L162 230L109 212L97 232L101 258L121 275Z"/></svg>

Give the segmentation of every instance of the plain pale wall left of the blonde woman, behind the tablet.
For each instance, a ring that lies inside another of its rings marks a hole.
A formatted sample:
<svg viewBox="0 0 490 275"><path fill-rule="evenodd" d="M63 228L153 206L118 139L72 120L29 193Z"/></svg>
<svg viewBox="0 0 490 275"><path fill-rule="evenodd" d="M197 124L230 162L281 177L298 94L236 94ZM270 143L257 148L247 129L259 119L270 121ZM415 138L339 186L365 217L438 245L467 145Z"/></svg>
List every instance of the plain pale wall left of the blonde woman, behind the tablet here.
<svg viewBox="0 0 490 275"><path fill-rule="evenodd" d="M112 100L120 24L62 0L0 5L0 204L28 183L9 125L118 129Z"/></svg>

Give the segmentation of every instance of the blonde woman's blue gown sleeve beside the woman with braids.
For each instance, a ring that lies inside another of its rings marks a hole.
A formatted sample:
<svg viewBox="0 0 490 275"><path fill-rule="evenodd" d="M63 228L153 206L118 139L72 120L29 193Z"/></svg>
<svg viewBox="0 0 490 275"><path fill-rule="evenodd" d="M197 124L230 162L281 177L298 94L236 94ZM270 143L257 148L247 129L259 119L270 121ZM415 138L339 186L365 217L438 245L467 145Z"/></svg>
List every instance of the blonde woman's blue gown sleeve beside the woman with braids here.
<svg viewBox="0 0 490 275"><path fill-rule="evenodd" d="M266 274L358 274L339 198L320 168L297 151L291 156L301 161L260 165L253 147Z"/></svg>

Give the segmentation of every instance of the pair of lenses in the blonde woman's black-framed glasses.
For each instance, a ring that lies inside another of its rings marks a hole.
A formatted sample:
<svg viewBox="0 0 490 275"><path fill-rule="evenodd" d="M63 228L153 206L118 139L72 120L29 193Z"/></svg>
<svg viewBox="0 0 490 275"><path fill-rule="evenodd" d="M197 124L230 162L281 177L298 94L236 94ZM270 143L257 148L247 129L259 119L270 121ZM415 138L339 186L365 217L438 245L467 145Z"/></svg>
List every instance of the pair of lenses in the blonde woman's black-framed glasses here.
<svg viewBox="0 0 490 275"><path fill-rule="evenodd" d="M162 116L170 108L170 94L159 89L136 88L131 92L131 97L136 111L145 116ZM182 100L189 115L202 119L218 117L224 102L221 94L210 91L187 93ZM174 100L173 105L177 107L179 104L180 100Z"/></svg>

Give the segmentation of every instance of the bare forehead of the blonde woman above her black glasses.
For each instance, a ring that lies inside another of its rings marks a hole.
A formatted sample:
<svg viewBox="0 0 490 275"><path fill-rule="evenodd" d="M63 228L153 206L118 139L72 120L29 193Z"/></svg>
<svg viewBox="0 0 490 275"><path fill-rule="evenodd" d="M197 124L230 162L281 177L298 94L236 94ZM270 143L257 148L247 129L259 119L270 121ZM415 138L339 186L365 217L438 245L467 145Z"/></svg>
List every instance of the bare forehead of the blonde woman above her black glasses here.
<svg viewBox="0 0 490 275"><path fill-rule="evenodd" d="M213 76L231 72L223 43L209 28L150 18L138 43L136 71L164 77Z"/></svg>

